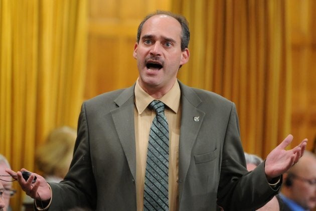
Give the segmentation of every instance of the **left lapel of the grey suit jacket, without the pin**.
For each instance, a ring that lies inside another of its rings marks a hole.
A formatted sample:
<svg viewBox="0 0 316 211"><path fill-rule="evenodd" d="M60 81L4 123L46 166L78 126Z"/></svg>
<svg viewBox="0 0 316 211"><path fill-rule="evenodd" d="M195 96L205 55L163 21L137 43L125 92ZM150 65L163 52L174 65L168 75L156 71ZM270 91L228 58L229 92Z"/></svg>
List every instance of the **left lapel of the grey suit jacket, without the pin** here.
<svg viewBox="0 0 316 211"><path fill-rule="evenodd" d="M122 144L129 169L136 178L136 146L134 129L134 86L125 89L115 100L111 110L118 138Z"/></svg>

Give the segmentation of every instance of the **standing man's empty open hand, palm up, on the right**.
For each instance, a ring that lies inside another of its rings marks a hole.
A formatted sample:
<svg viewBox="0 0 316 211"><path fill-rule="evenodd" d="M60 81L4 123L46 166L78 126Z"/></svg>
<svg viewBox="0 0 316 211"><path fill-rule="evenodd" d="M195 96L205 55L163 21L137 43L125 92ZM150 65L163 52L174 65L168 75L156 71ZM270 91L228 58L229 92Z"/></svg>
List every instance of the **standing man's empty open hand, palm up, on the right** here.
<svg viewBox="0 0 316 211"><path fill-rule="evenodd" d="M303 155L307 139L302 140L302 142L294 148L285 150L286 146L290 144L292 140L293 135L287 135L287 137L268 154L265 160L264 170L269 181L286 172Z"/></svg>

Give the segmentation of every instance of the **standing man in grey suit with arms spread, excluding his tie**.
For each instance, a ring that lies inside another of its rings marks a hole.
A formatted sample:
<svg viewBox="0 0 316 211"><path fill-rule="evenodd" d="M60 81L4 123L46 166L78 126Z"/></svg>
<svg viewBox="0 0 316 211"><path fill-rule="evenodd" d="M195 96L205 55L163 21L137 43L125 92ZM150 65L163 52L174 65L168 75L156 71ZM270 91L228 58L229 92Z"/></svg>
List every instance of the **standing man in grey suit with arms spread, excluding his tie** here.
<svg viewBox="0 0 316 211"><path fill-rule="evenodd" d="M282 173L298 161L307 140L285 150L293 138L288 135L248 172L235 104L177 80L179 68L189 60L189 39L183 16L157 11L144 18L133 51L139 77L132 87L82 104L65 179L48 184L32 173L25 181L20 171L8 170L36 199L37 208L216 210L219 205L254 210L279 191ZM148 136L155 116L147 105L154 99L165 104L169 125L167 208L143 205Z"/></svg>

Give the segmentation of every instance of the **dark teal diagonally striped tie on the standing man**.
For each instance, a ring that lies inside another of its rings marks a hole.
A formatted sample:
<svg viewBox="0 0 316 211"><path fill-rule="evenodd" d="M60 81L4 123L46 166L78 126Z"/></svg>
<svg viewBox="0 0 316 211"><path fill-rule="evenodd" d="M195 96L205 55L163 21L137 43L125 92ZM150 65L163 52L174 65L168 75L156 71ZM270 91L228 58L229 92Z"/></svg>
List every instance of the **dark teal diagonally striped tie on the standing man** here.
<svg viewBox="0 0 316 211"><path fill-rule="evenodd" d="M156 116L149 132L144 210L168 210L169 128L165 104L153 100L148 106L155 110Z"/></svg>

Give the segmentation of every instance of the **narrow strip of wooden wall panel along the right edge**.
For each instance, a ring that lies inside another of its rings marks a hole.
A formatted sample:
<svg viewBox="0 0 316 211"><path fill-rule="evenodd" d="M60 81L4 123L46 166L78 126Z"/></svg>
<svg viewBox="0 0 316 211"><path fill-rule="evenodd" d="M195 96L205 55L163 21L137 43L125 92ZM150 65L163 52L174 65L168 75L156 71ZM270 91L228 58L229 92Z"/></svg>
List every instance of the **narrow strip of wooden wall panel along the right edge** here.
<svg viewBox="0 0 316 211"><path fill-rule="evenodd" d="M288 0L292 49L292 128L294 137L316 137L316 1Z"/></svg>

